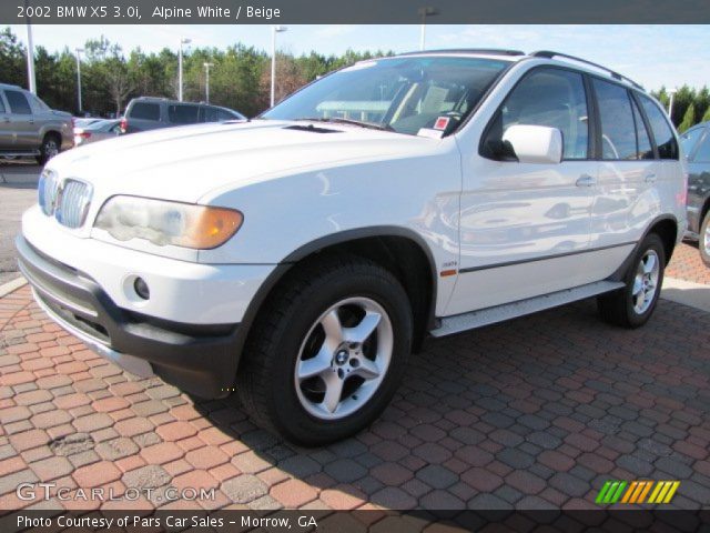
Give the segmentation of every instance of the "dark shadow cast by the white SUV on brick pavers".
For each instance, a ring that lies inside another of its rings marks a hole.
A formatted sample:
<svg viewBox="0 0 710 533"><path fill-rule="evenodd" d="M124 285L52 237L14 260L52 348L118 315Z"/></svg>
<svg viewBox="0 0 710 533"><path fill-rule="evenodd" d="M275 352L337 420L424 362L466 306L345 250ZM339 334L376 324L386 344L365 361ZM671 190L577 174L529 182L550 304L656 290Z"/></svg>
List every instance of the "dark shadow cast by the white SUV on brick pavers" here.
<svg viewBox="0 0 710 533"><path fill-rule="evenodd" d="M645 477L684 480L673 504L697 509L710 494L709 341L710 314L668 301L631 331L586 301L429 340L378 421L317 449L258 429L234 398L194 406L265 506L263 480L290 476L304 482L293 506L316 490L337 509L397 510L592 509L607 479Z"/></svg>

